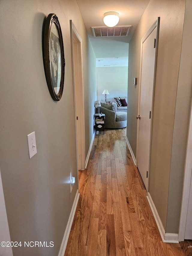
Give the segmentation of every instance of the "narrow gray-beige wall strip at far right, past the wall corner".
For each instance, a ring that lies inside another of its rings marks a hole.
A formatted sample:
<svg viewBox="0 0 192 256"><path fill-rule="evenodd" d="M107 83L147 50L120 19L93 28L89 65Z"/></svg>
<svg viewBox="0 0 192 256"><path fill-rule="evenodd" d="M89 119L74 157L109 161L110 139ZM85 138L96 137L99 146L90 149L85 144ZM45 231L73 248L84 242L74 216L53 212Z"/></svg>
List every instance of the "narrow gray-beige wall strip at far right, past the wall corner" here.
<svg viewBox="0 0 192 256"><path fill-rule="evenodd" d="M178 233L192 93L192 2L186 1L177 86L166 232ZM175 228L173 230L173 227Z"/></svg>

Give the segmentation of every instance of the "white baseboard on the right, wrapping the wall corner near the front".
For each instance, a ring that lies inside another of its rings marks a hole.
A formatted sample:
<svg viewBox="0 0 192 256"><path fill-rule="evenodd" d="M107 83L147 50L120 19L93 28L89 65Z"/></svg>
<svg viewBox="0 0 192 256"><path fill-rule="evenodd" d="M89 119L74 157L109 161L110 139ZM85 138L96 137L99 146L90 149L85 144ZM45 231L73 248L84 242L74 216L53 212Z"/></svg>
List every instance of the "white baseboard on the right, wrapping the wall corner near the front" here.
<svg viewBox="0 0 192 256"><path fill-rule="evenodd" d="M155 204L153 203L153 200L152 200L151 195L150 195L149 192L147 193L147 200L149 202L149 205L151 207L151 210L152 210L152 213L154 215L155 221L157 223L158 230L159 230L159 233L161 235L162 241L164 243L179 243L179 241L178 241L179 235L178 234L165 233L164 226L161 222L161 219L159 217L159 214L157 212L157 209L155 207Z"/></svg>

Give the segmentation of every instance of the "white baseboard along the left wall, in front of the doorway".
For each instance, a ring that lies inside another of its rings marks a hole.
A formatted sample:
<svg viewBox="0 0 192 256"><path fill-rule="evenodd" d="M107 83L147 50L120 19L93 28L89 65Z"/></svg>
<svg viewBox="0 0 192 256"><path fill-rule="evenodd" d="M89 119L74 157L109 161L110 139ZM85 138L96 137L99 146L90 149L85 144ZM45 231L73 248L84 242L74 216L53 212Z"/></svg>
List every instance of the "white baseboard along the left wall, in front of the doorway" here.
<svg viewBox="0 0 192 256"><path fill-rule="evenodd" d="M74 202L73 202L73 206L72 206L72 209L71 209L71 212L70 212L70 215L69 215L69 219L68 219L68 222L67 222L67 227L65 229L65 233L64 233L64 236L63 236L63 240L62 240L62 243L61 243L61 247L60 247L58 256L63 256L65 254L65 249L66 249L66 246L67 246L67 241L69 239L71 226L73 224L73 218L74 218L77 203L78 203L78 200L79 200L79 195L80 195L79 194L79 189L77 189L77 192L76 192L75 199L74 199Z"/></svg>

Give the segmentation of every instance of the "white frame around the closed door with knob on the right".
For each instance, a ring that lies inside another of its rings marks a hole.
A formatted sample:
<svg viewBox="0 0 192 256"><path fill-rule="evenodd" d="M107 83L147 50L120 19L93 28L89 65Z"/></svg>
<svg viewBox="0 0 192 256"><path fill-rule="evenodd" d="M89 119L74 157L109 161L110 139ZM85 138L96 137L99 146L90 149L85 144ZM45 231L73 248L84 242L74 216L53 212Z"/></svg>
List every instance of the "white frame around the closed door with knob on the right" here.
<svg viewBox="0 0 192 256"><path fill-rule="evenodd" d="M154 70L154 84L153 84L153 96L152 96L152 110L153 110L153 101L154 101L154 88L155 88L155 74L156 74L156 63L157 63L157 50L158 50L158 39L159 39L159 23L160 17L153 23L148 32L141 39L141 55L140 55L140 81L139 81L139 98L138 98L138 115L140 112L140 98L141 98L141 74L142 74L142 55L143 55L143 43L157 27L157 38L156 38L156 50L155 50L155 70ZM149 170L150 170L150 155L151 155L151 138L152 138L152 121L153 121L153 111L151 113L151 131L150 131L150 148L149 148ZM139 144L139 125L140 122L137 122L137 149L136 149L136 166L138 164L138 144ZM148 171L148 189L149 190L149 171Z"/></svg>

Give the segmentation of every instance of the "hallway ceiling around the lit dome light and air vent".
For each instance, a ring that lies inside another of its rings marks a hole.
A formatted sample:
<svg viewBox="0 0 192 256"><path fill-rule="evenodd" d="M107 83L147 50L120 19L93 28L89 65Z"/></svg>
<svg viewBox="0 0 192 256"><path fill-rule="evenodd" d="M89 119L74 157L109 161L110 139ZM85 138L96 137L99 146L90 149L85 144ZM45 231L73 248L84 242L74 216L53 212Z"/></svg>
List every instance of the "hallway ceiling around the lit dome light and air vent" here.
<svg viewBox="0 0 192 256"><path fill-rule="evenodd" d="M128 57L128 43L150 0L77 0L96 58ZM119 13L117 26L130 26L128 36L94 37L91 27L104 27L104 13ZM118 59L116 59L118 60ZM111 61L111 59L110 59Z"/></svg>

